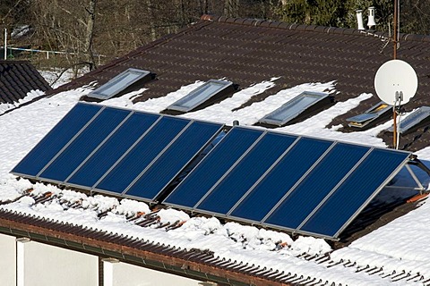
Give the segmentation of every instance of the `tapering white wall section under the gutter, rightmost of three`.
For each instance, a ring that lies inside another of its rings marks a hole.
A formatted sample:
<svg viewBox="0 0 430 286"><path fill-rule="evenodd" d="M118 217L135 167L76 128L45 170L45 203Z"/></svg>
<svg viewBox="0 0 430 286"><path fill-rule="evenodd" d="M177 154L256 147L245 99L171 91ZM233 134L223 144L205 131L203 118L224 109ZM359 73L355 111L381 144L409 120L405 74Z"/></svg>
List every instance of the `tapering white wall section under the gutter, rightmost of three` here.
<svg viewBox="0 0 430 286"><path fill-rule="evenodd" d="M199 281L122 262L104 261L105 286L194 286Z"/></svg>

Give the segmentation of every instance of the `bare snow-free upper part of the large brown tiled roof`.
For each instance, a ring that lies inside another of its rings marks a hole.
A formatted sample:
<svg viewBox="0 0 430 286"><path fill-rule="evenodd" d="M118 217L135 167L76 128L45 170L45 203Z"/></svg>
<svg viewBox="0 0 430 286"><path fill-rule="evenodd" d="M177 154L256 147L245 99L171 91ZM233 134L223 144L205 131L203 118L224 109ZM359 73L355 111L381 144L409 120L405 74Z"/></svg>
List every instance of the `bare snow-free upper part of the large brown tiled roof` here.
<svg viewBox="0 0 430 286"><path fill-rule="evenodd" d="M374 74L393 54L392 44L387 43L386 37L380 32L357 29L204 15L190 27L107 63L62 90L81 87L93 80L104 83L133 67L155 72L158 76L158 80L145 85L149 90L136 101L165 96L195 80L224 77L241 88L280 77L275 88L253 97L250 102L297 84L331 80L335 80L336 89L340 91L335 99L345 101L361 93L374 93ZM429 43L428 36L400 35L398 58L416 69L419 82L417 96L405 105L407 111L430 105L426 99L430 92ZM379 99L374 96L334 119L331 125L346 126L346 118L363 113L377 102ZM382 136L391 145L391 133ZM412 141L414 143L409 144ZM408 144L406 149L412 151L425 147L428 141L428 132L421 132L415 140L413 135L401 139L402 144Z"/></svg>

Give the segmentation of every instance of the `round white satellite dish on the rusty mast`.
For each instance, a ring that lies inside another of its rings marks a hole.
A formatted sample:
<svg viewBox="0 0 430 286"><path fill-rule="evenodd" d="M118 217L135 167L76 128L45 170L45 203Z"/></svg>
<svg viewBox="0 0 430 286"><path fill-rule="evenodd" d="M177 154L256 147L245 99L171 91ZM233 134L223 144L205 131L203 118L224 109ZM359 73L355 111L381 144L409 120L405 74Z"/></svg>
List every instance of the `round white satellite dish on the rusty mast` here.
<svg viewBox="0 0 430 286"><path fill-rule="evenodd" d="M417 73L404 61L385 62L374 76L376 94L387 105L407 104L415 96L417 88Z"/></svg>

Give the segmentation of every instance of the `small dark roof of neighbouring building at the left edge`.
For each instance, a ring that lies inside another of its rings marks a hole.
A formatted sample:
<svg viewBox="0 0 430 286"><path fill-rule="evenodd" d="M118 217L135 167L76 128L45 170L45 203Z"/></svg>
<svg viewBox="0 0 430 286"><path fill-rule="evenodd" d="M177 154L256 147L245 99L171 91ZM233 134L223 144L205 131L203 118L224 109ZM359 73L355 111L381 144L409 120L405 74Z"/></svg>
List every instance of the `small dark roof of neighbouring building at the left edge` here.
<svg viewBox="0 0 430 286"><path fill-rule="evenodd" d="M31 63L0 61L0 103L12 104L36 89L47 91L51 87Z"/></svg>

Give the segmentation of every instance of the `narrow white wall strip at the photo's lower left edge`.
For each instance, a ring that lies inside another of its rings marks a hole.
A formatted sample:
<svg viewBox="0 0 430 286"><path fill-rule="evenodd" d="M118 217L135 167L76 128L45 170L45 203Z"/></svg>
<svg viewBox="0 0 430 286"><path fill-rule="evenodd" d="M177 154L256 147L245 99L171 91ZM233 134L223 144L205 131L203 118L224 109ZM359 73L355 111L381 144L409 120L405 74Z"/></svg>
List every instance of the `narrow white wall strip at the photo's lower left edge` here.
<svg viewBox="0 0 430 286"><path fill-rule="evenodd" d="M14 286L15 280L15 237L0 234L0 285Z"/></svg>

